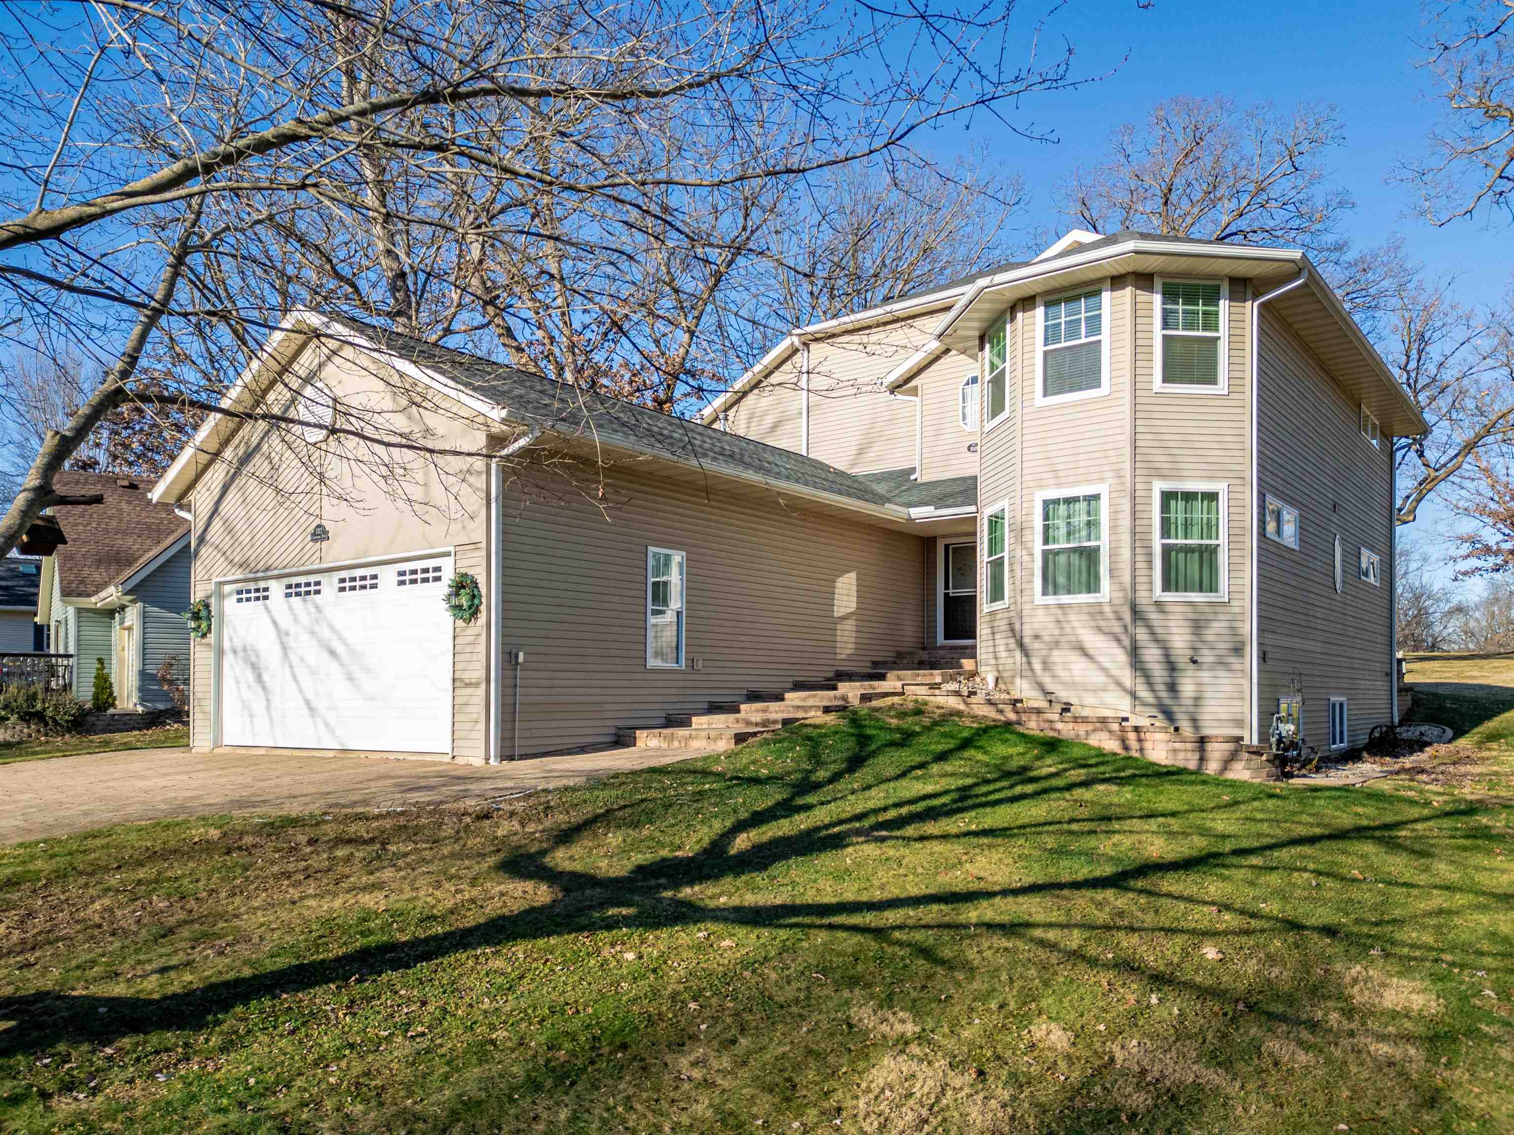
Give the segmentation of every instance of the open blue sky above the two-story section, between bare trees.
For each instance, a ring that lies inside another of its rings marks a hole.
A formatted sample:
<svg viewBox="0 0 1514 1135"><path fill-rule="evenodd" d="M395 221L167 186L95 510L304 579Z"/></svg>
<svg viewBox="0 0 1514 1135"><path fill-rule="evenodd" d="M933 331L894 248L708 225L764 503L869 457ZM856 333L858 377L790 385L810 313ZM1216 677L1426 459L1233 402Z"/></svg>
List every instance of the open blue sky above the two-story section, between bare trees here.
<svg viewBox="0 0 1514 1135"><path fill-rule="evenodd" d="M1320 20L1326 9L1329 18ZM1033 227L1066 229L1054 210L1055 186L1075 165L1101 159L1114 124L1142 118L1163 98L1222 94L1243 106L1270 101L1279 109L1329 103L1346 133L1329 165L1357 200L1346 224L1354 242L1372 245L1400 233L1408 254L1432 274L1455 275L1469 301L1493 301L1509 286L1514 230L1482 221L1435 229L1416 210L1413 189L1388 180L1399 159L1419 153L1435 117L1434 103L1422 97L1432 76L1414 67L1425 56L1417 3L1157 0L1142 11L1136 0L1072 0L1052 17L1051 30L1073 42L1084 73L1128 59L1104 82L1025 104L1026 117L1057 130L1058 144L1036 145L1005 132L1005 163L1025 176ZM978 120L975 132L984 129ZM952 145L949 136L937 141ZM1455 521L1434 505L1420 518L1407 530L1410 539L1441 548L1438 537Z"/></svg>

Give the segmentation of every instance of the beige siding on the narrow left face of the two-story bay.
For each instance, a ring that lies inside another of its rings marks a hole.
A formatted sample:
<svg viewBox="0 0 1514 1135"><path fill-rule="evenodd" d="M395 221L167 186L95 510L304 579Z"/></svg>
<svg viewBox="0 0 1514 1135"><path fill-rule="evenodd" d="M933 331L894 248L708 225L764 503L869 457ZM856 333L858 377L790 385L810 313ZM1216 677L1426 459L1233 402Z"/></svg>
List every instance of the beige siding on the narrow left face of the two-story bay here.
<svg viewBox="0 0 1514 1135"><path fill-rule="evenodd" d="M984 356L984 345L980 344L980 375L978 375L978 390L981 395L981 406L978 413L978 669L983 673L998 675L1002 686L1008 689L1017 689L1019 670L1020 670L1020 651L1019 651L1019 614L1020 614L1020 589L1019 589L1019 431L1020 431L1020 386L1025 368L1020 360L1020 333L1022 319L1016 315L1010 321L1008 342L1005 351L1008 359L1005 362L1005 406L1008 407L1007 416L993 427L993 430L984 433L987 425L987 371ZM990 508L998 508L999 504L1008 501L1008 524L1005 527L1004 539L1005 549L1008 552L1005 580L1008 592L1008 605L996 611L984 611L983 605L987 596L987 581L984 578L983 566L983 516Z"/></svg>

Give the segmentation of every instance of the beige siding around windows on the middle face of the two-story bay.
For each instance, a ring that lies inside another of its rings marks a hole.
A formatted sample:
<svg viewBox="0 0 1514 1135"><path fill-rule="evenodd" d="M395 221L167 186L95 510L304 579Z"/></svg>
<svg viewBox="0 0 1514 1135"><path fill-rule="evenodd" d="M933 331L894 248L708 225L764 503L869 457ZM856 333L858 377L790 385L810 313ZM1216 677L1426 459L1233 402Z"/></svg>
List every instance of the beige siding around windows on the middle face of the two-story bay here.
<svg viewBox="0 0 1514 1135"><path fill-rule="evenodd" d="M1098 285L1090 285L1096 288ZM1030 698L1048 693L1084 705L1120 708L1129 704L1129 393L1125 336L1129 328L1128 291L1111 285L1105 309L1110 336L1110 392L1096 398L1036 406L1037 301L1020 307L1017 384L1022 422L1017 483L1017 563L1023 611L1019 690ZM1108 540L1108 602L1036 602L1036 495L1108 484L1104 518Z"/></svg>

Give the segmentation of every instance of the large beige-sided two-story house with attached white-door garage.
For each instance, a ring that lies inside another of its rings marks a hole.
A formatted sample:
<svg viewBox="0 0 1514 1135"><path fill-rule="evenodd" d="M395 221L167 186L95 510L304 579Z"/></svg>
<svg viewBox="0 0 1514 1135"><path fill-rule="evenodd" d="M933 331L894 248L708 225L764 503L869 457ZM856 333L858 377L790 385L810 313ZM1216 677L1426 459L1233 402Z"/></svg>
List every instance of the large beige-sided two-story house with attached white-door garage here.
<svg viewBox="0 0 1514 1135"><path fill-rule="evenodd" d="M1393 719L1425 424L1299 251L1072 233L798 328L702 422L315 312L224 406L153 489L213 611L197 749L733 742L945 654L1237 743Z"/></svg>

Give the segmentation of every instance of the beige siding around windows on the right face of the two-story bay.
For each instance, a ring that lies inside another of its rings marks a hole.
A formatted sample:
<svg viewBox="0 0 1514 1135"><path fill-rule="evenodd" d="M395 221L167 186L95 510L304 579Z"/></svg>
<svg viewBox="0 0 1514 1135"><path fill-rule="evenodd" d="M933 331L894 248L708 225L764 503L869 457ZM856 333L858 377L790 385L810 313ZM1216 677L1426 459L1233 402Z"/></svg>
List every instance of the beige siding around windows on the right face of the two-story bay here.
<svg viewBox="0 0 1514 1135"><path fill-rule="evenodd" d="M1246 285L1229 289L1229 393L1154 390L1155 292L1128 281L1136 300L1136 716L1240 735L1246 726L1249 623L1246 518L1251 490L1246 390ZM1155 602L1152 484L1223 483L1229 601ZM1193 661L1193 660L1198 661Z"/></svg>

